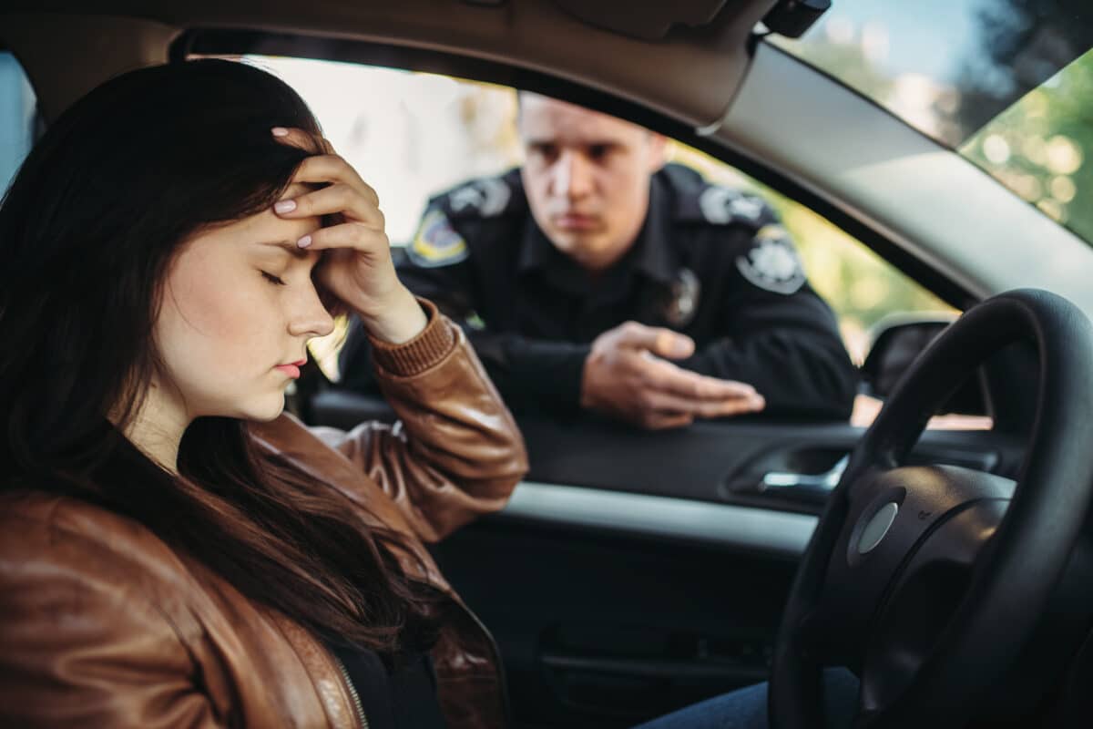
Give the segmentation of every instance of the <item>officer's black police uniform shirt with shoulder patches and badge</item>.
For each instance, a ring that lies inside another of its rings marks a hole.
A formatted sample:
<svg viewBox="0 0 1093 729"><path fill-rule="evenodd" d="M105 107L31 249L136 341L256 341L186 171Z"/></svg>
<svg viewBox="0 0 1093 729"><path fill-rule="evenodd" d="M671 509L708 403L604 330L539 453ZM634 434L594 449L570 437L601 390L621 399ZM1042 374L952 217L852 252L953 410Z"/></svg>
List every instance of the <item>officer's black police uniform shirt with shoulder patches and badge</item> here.
<svg viewBox="0 0 1093 729"><path fill-rule="evenodd" d="M749 383L767 414L847 418L856 369L771 208L674 164L650 185L635 245L595 279L536 225L518 169L433 198L399 275L463 326L517 411L576 411L591 341L635 320L693 338L675 363ZM374 391L367 358L357 324L344 387Z"/></svg>

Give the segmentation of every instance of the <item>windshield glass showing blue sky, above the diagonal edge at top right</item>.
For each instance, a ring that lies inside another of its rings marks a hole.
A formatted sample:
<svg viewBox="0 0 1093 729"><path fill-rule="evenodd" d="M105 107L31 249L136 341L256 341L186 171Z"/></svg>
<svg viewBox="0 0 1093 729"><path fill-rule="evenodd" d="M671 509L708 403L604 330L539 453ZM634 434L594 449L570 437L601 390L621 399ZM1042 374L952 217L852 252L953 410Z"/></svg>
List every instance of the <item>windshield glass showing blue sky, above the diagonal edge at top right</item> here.
<svg viewBox="0 0 1093 729"><path fill-rule="evenodd" d="M769 42L959 146L1093 47L1088 0L837 0Z"/></svg>

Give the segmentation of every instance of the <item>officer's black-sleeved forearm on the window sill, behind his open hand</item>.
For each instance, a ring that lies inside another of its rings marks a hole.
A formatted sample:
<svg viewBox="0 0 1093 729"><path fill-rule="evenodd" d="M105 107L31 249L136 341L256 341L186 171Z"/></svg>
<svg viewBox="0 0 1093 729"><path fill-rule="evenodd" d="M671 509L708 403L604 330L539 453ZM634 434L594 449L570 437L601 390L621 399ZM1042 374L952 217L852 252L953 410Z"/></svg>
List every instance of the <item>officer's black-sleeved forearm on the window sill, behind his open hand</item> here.
<svg viewBox="0 0 1093 729"><path fill-rule="evenodd" d="M678 362L681 367L748 383L767 414L845 420L857 395L857 371L843 343L825 332L781 329L724 338Z"/></svg>

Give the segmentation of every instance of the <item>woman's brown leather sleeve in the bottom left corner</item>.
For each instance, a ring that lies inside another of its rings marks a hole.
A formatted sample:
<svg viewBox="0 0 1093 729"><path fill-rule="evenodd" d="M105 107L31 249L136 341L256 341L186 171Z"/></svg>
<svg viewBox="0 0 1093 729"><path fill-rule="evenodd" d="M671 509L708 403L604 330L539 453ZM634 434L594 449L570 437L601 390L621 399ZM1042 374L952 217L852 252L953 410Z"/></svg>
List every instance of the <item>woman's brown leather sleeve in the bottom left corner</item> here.
<svg viewBox="0 0 1093 729"><path fill-rule="evenodd" d="M176 626L108 543L48 522L0 536L0 726L227 726Z"/></svg>

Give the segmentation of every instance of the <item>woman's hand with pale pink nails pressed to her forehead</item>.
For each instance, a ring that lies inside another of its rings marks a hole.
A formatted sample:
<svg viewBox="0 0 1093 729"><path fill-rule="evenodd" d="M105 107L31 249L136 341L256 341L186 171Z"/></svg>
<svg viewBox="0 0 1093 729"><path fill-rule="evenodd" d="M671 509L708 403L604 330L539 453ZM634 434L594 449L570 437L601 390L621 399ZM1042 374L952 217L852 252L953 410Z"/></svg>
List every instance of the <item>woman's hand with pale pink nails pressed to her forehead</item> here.
<svg viewBox="0 0 1093 729"><path fill-rule="evenodd" d="M327 140L302 129L278 127L272 133L284 144L314 153L299 165L293 183L326 185L294 199L279 200L273 207L284 219L317 216L332 221L296 244L326 251L315 272L318 283L356 311L373 337L396 344L413 339L427 320L395 273L376 191L333 153Z"/></svg>

